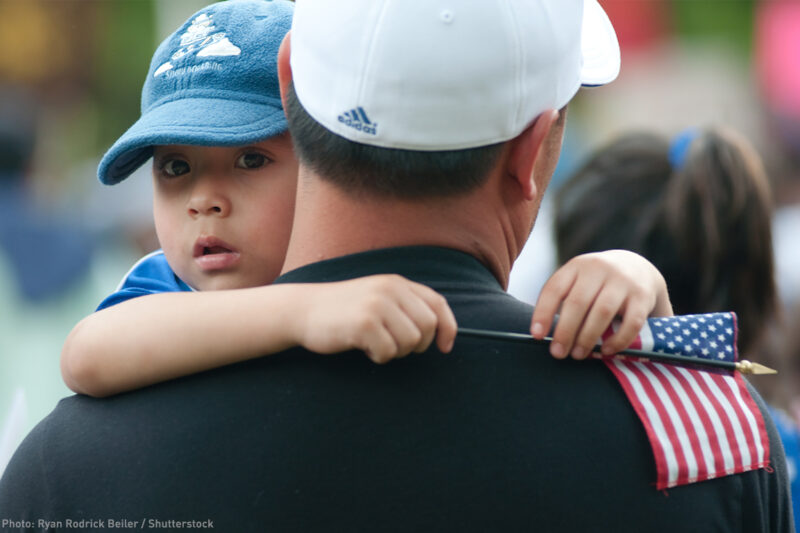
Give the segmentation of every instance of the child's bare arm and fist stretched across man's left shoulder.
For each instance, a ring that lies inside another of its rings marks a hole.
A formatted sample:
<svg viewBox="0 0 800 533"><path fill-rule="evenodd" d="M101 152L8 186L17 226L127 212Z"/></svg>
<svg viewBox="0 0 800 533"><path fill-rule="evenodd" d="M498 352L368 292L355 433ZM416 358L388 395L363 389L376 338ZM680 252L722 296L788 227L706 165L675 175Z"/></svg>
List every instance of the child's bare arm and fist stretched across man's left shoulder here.
<svg viewBox="0 0 800 533"><path fill-rule="evenodd" d="M119 392L302 345L360 349L385 363L436 344L456 322L445 299L400 276L339 283L141 296L97 311L70 332L61 372L75 392Z"/></svg>

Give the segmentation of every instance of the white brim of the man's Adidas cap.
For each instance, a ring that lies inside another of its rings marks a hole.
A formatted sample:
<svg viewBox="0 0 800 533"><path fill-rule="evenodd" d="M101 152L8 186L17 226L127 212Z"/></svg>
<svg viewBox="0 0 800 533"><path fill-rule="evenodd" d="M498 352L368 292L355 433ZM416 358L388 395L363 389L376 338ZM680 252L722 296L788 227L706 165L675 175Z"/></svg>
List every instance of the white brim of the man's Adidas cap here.
<svg viewBox="0 0 800 533"><path fill-rule="evenodd" d="M581 85L605 85L619 75L621 58L617 34L597 0L584 0L583 3L581 51Z"/></svg>

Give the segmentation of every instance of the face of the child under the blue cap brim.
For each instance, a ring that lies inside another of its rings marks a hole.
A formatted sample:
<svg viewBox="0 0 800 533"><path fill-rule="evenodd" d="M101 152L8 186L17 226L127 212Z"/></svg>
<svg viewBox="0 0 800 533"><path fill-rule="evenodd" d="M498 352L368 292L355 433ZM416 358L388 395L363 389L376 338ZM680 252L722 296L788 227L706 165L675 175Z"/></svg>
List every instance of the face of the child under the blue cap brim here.
<svg viewBox="0 0 800 533"><path fill-rule="evenodd" d="M153 183L158 240L183 281L218 290L275 280L297 185L288 135L239 147L157 146Z"/></svg>

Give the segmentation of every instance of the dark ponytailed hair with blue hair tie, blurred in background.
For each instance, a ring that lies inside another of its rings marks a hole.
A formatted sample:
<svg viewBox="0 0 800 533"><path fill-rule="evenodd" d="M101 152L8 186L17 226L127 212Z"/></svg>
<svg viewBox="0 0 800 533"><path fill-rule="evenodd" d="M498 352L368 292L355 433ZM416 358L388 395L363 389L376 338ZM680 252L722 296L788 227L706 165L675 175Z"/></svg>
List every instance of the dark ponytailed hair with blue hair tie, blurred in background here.
<svg viewBox="0 0 800 533"><path fill-rule="evenodd" d="M733 132L680 142L671 151L657 135L628 134L590 157L556 195L559 261L637 252L664 275L676 313L735 311L746 351L777 313L769 183Z"/></svg>

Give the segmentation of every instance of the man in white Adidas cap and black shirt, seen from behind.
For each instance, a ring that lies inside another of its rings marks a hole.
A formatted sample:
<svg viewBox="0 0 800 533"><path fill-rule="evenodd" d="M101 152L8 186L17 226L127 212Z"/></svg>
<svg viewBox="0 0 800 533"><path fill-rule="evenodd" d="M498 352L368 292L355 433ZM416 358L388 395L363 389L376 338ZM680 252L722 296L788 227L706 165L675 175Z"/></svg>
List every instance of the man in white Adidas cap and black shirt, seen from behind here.
<svg viewBox="0 0 800 533"><path fill-rule="evenodd" d="M587 6L298 2L279 59L301 160L279 282L398 273L444 294L459 326L526 331L531 308L503 287L558 159L557 110L618 67ZM667 495L602 363L462 338L383 367L291 350L62 402L0 508L231 531L790 531L767 422L769 472Z"/></svg>

